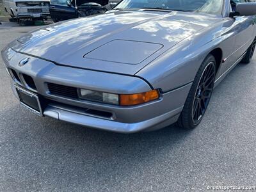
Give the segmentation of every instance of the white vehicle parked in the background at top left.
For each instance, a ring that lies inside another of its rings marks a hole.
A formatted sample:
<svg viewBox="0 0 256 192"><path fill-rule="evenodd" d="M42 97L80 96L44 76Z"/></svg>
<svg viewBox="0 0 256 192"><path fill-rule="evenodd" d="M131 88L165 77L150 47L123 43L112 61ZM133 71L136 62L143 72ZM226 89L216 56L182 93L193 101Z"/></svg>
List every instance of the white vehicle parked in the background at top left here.
<svg viewBox="0 0 256 192"><path fill-rule="evenodd" d="M50 16L50 0L3 0L4 10L17 20L42 20Z"/></svg>

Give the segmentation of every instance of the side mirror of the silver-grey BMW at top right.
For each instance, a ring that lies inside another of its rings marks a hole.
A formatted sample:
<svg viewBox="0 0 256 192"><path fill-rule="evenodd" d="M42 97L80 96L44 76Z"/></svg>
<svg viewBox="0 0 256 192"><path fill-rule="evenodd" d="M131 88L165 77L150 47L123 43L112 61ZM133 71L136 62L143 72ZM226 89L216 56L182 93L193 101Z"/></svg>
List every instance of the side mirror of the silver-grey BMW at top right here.
<svg viewBox="0 0 256 192"><path fill-rule="evenodd" d="M240 16L256 15L256 3L237 3L236 12Z"/></svg>

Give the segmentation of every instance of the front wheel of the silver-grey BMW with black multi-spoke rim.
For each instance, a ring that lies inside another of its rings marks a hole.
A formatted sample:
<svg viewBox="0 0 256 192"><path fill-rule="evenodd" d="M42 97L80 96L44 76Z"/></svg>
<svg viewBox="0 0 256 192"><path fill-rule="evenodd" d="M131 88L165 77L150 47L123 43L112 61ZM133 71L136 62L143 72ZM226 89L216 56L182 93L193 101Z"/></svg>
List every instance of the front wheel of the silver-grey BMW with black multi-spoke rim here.
<svg viewBox="0 0 256 192"><path fill-rule="evenodd" d="M212 54L209 54L196 73L189 90L184 108L177 122L179 127L193 129L200 124L211 99L215 76L216 60ZM201 111L202 114L200 115Z"/></svg>

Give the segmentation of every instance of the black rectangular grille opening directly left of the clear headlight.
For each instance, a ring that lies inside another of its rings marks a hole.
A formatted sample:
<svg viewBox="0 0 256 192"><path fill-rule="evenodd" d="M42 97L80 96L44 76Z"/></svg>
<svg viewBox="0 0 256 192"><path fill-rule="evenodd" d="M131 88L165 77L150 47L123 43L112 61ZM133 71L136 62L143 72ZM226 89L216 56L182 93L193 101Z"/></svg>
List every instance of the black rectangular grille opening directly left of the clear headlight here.
<svg viewBox="0 0 256 192"><path fill-rule="evenodd" d="M51 94L78 99L77 88L61 84L47 83Z"/></svg>

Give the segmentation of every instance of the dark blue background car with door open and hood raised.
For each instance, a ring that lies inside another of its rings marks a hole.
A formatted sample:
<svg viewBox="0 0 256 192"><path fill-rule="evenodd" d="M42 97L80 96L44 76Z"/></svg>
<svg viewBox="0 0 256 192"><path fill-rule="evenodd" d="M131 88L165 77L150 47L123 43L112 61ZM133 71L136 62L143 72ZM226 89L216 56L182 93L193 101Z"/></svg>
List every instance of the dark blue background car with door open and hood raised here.
<svg viewBox="0 0 256 192"><path fill-rule="evenodd" d="M108 0L52 0L50 14L54 22L105 13Z"/></svg>

